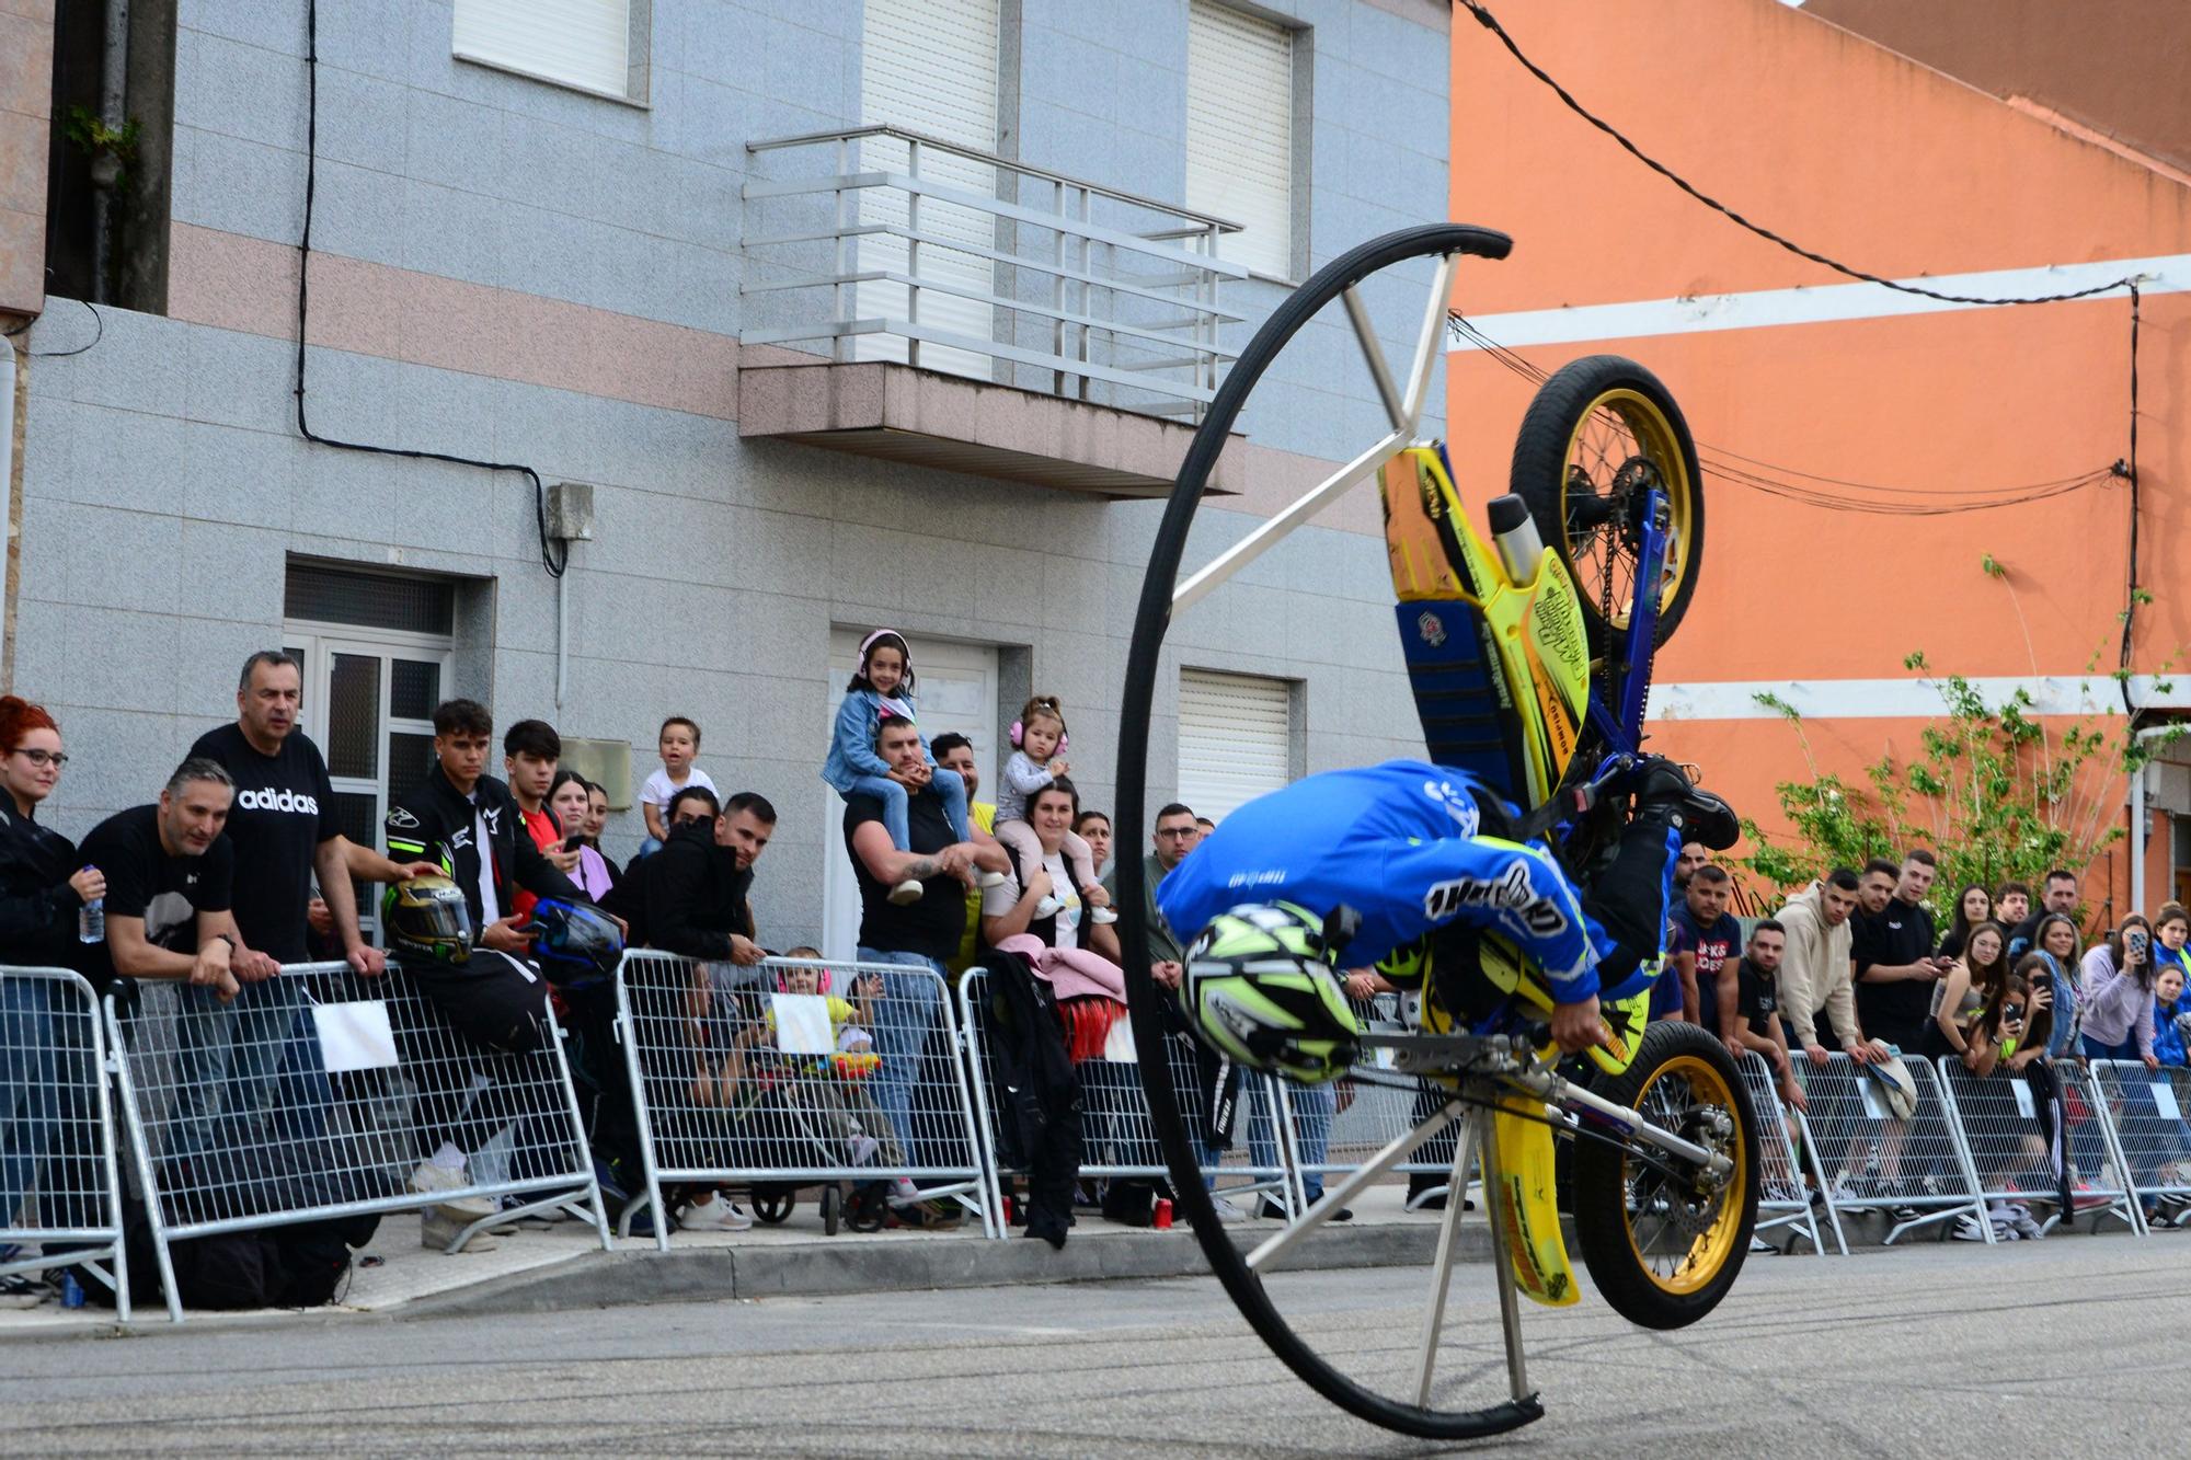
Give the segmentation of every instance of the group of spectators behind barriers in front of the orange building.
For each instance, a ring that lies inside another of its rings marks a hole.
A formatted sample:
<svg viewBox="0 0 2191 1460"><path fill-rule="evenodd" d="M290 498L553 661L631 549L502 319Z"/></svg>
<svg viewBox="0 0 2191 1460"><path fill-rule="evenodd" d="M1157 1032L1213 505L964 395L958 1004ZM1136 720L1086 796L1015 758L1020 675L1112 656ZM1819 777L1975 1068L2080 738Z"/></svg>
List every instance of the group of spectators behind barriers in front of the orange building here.
<svg viewBox="0 0 2191 1460"><path fill-rule="evenodd" d="M2163 903L2152 919L2125 914L2086 945L2075 921L2077 875L2055 868L2040 883L2038 908L2020 881L1959 888L1941 932L1928 905L1937 870L1937 857L1922 846L1900 862L1875 857L1862 868L1834 868L1755 919L1744 936L1724 912L1731 879L1702 846L1685 846L1667 929L1678 978L1661 980L1654 1017L1702 1024L1737 1059L1755 1052L1773 1068L1781 1103L1797 1111L1810 1109L1805 1068L1825 1070L1836 1050L1858 1065L1946 1059L1974 1079L2022 1081L2029 1096L2020 1105L2042 1122L2053 1120L2051 1129L2062 1129L2064 1111L2075 1107L2053 1061L2184 1068L2191 914L2180 903ZM2130 1087L2154 1090L2145 1081ZM1906 1193L1897 1125L1889 1122L1867 1151L1867 1173L1838 1173L1847 1177L1840 1195L1854 1197L1849 1206L1875 1195L1893 1221L1917 1221L1922 1212L1895 1199ZM2079 1177L2077 1142L2035 1144L2031 1195L1987 1210L1996 1241L2042 1234L2031 1204L2062 1212L2097 1204ZM2086 1155L2092 1166L2103 1160ZM2138 1171L2141 1184L2191 1182L2191 1149L2182 1155L2180 1168ZM2191 1225L2191 1201L2160 1195L2147 1204L2145 1221ZM1985 1241L1987 1232L1970 1214L1950 1236Z"/></svg>

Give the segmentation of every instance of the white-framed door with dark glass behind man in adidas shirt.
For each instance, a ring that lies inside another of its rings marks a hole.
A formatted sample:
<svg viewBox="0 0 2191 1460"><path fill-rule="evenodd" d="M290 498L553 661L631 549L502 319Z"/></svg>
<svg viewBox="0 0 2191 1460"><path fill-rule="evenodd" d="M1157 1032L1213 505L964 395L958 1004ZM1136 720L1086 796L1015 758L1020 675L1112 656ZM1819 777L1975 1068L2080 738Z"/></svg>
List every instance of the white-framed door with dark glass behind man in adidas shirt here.
<svg viewBox="0 0 2191 1460"><path fill-rule="evenodd" d="M381 846L390 798L434 763L434 706L456 651L456 585L320 563L289 563L283 645L305 666L305 734L326 756L342 835ZM372 936L379 899L357 888Z"/></svg>

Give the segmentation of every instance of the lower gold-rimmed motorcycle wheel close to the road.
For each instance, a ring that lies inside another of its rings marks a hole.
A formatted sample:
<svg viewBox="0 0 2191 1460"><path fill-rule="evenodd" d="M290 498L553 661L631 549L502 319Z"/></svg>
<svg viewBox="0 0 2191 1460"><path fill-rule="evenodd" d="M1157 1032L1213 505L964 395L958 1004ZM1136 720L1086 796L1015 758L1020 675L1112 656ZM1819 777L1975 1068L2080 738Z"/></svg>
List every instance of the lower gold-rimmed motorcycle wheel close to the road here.
<svg viewBox="0 0 2191 1460"><path fill-rule="evenodd" d="M1724 1186L1641 1149L1575 1151L1575 1236L1604 1293L1645 1328L1680 1328L1718 1307L1757 1225L1757 1127L1727 1046L1694 1024L1652 1024L1602 1096L1733 1162Z"/></svg>

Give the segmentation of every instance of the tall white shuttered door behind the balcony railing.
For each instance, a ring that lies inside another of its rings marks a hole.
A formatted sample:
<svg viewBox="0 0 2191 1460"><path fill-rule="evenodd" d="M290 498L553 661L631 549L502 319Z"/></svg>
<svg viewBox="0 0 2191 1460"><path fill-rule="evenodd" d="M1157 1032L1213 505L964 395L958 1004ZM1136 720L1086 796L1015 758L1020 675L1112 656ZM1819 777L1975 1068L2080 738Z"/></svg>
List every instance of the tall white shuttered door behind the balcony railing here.
<svg viewBox="0 0 2191 1460"><path fill-rule="evenodd" d="M859 118L957 142L975 151L997 151L997 66L1001 26L997 0L868 0L861 24ZM898 138L865 138L859 169L907 171L914 149ZM922 147L918 173L931 184L979 197L995 197L997 169ZM903 283L854 285L857 318L909 320L916 327L988 340L993 309L979 298L995 294L988 259L951 248L993 250L995 219L964 204L918 197L887 189L863 189L859 221L903 232L859 239L859 270L887 270L936 283L914 296ZM916 235L916 237L905 237ZM907 360L905 340L857 335L859 360ZM922 344L920 368L988 377L988 357L975 351Z"/></svg>

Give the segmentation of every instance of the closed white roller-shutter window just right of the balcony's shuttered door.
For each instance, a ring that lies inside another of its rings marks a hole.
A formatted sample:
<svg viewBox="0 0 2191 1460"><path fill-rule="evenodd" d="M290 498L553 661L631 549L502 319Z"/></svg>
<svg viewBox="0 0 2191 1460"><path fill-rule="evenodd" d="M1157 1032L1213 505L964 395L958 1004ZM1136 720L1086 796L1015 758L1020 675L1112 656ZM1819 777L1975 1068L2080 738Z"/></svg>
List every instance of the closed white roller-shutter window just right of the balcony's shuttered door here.
<svg viewBox="0 0 2191 1460"><path fill-rule="evenodd" d="M1188 4L1188 206L1244 226L1227 259L1295 274L1293 31L1212 0Z"/></svg>

